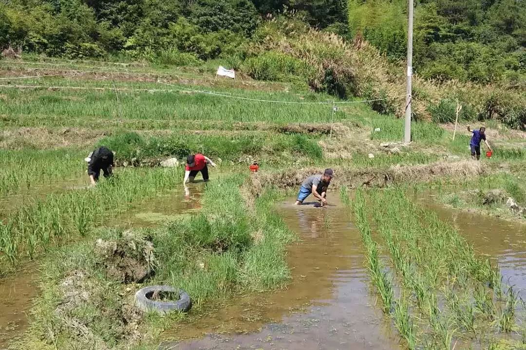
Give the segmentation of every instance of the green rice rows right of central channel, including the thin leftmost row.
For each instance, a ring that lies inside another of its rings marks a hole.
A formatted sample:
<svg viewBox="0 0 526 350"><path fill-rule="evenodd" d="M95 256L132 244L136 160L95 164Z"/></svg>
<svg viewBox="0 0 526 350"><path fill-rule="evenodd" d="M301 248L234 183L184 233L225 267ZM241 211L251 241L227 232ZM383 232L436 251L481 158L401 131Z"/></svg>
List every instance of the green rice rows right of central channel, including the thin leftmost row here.
<svg viewBox="0 0 526 350"><path fill-rule="evenodd" d="M389 251L396 272L392 288L398 285L400 297L393 308L384 304L382 309L393 318L406 346L419 348L424 342L426 348L450 348L454 337L476 343L482 336L497 338L499 332L514 330L517 293L512 287L504 291L498 269L437 214L408 200L405 192L404 188L372 191L367 206L359 192L353 206L366 246L366 264L378 260L371 259L368 247L374 247L372 255L380 249L371 239L367 217L372 217ZM381 291L375 270L369 268L371 281Z"/></svg>

